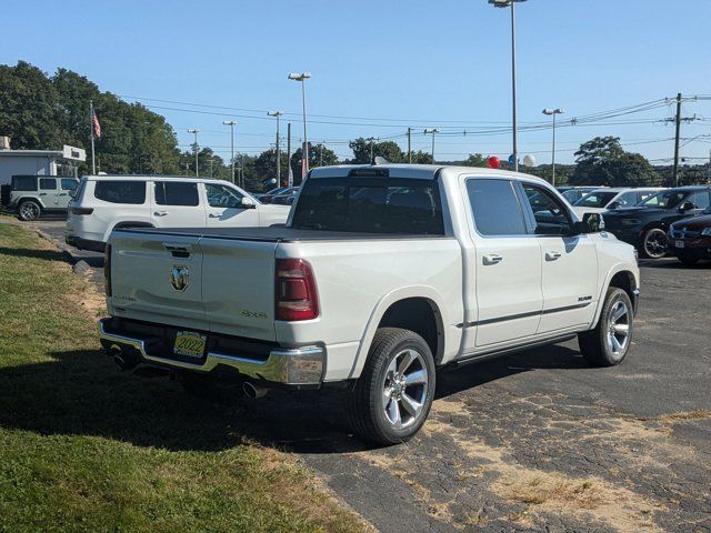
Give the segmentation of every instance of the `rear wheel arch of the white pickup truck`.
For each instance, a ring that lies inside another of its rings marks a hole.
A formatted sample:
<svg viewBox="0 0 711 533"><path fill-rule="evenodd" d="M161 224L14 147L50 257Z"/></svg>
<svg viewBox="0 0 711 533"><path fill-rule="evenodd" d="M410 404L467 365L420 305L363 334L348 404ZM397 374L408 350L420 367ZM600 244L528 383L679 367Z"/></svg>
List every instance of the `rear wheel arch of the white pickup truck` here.
<svg viewBox="0 0 711 533"><path fill-rule="evenodd" d="M443 300L431 288L412 286L383 296L368 321L350 378L361 374L375 332L384 326L402 328L418 333L432 350L435 363L439 363L445 353L447 319Z"/></svg>

